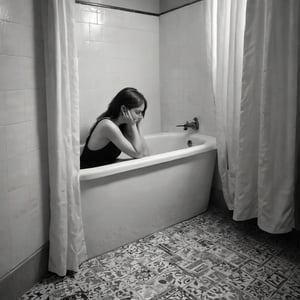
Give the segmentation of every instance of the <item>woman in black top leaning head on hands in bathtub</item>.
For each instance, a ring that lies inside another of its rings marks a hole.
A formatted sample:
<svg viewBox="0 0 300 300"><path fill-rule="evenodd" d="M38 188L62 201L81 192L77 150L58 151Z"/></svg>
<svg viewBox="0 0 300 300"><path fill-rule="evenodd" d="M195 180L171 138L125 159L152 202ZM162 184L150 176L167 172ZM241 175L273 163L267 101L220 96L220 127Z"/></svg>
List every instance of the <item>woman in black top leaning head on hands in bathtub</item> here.
<svg viewBox="0 0 300 300"><path fill-rule="evenodd" d="M148 155L139 128L146 109L147 101L138 90L121 90L92 126L80 156L80 168L113 163L121 152L133 158Z"/></svg>

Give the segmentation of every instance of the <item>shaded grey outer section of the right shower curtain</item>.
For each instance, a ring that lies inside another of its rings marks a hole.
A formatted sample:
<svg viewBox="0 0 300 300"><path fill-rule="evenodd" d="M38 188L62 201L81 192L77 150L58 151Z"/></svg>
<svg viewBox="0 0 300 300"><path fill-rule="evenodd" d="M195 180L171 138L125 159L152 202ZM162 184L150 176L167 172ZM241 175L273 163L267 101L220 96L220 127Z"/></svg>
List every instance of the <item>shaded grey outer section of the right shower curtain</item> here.
<svg viewBox="0 0 300 300"><path fill-rule="evenodd" d="M298 2L247 4L234 219L271 233L294 227Z"/></svg>

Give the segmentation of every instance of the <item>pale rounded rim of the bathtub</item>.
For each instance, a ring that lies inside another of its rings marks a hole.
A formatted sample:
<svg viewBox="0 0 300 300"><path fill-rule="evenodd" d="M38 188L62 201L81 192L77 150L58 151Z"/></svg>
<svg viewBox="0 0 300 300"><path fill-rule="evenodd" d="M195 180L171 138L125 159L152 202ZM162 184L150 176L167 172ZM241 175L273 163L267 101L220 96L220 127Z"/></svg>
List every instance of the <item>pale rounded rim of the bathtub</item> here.
<svg viewBox="0 0 300 300"><path fill-rule="evenodd" d="M183 148L179 150L173 150L169 152L154 154L138 159L130 159L126 161L121 161L105 166L81 169L79 171L79 180L87 181L102 177L107 177L114 174L125 173L128 171L145 168L148 166L154 166L162 164L165 162L170 162L178 159L183 159L186 157L194 156L203 152L208 152L216 150L216 138L213 136L208 136L200 133L180 133L180 132L159 132L154 134L146 135L147 137L156 136L184 136L188 138L201 138L205 142L201 145L195 145L189 148Z"/></svg>

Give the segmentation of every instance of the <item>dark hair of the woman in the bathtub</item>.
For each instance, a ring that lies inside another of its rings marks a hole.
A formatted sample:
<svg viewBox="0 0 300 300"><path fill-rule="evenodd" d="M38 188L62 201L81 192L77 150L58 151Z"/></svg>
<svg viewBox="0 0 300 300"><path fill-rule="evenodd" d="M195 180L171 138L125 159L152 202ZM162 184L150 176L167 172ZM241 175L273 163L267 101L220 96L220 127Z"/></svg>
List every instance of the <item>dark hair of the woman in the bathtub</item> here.
<svg viewBox="0 0 300 300"><path fill-rule="evenodd" d="M122 89L109 103L107 110L101 114L97 120L110 117L115 119L119 116L121 111L121 106L124 105L128 109L136 108L145 105L142 112L143 117L147 109L147 101L145 97L135 88L127 87Z"/></svg>

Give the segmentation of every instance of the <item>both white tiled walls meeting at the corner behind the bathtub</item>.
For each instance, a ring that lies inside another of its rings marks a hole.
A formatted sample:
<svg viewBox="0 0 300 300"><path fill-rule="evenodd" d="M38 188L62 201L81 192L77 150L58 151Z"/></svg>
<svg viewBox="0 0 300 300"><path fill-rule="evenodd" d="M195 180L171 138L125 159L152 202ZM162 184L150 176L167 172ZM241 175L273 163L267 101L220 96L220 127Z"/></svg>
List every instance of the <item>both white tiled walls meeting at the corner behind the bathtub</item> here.
<svg viewBox="0 0 300 300"><path fill-rule="evenodd" d="M180 130L197 116L200 131L215 134L204 34L203 2L159 18L78 4L81 141L128 85L149 100L145 133Z"/></svg>

